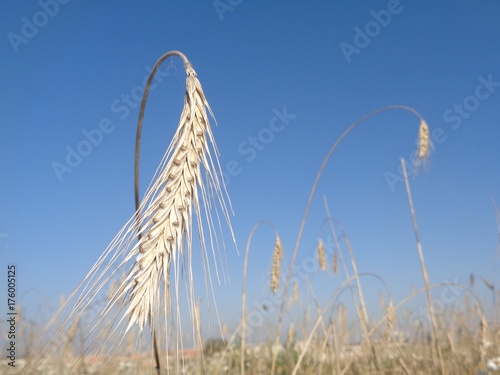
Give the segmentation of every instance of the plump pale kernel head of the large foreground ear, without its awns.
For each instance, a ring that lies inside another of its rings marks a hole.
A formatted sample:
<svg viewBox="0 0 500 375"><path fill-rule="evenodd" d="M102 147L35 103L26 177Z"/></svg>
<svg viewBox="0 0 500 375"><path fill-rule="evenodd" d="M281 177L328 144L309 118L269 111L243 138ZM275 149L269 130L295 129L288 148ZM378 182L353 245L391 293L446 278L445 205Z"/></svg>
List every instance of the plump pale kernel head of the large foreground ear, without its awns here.
<svg viewBox="0 0 500 375"><path fill-rule="evenodd" d="M198 187L202 195L206 194L202 165L208 173L212 172L212 161L206 154L206 109L210 107L195 71L187 67L186 73L184 109L170 145L172 156L153 186L158 195L144 212L143 236L135 267L128 276L133 282L127 310L129 327L138 323L142 329L151 323L156 301L160 300L161 280L170 274L172 258L178 259L185 250L190 251L193 207L196 215L201 216ZM203 233L200 239L204 240Z"/></svg>

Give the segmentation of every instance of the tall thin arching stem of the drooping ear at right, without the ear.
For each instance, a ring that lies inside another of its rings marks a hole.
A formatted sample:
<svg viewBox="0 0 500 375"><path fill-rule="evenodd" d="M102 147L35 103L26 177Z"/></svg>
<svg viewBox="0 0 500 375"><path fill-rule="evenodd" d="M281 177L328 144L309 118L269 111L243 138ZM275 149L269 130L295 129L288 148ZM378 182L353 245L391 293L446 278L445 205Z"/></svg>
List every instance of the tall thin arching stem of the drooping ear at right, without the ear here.
<svg viewBox="0 0 500 375"><path fill-rule="evenodd" d="M278 318L278 331L277 331L277 334L276 334L276 342L275 342L276 345L278 345L279 341L280 341L281 326L282 326L282 323L283 323L283 312L284 312L284 309L285 309L285 300L286 300L288 288L290 286L289 284L290 284L290 279L291 279L292 273L293 273L293 266L295 264L295 259L297 257L297 253L298 253L298 249L299 249L299 245L300 245L300 240L302 239L302 233L304 231L304 227L305 227L305 224L306 224L307 215L309 214L309 209L311 207L312 198L314 196L314 193L316 192L316 188L318 186L319 179L320 179L321 175L323 174L323 170L325 169L326 164L328 163L328 160L330 159L330 156L332 155L333 151L335 151L335 149L337 148L337 146L339 145L339 143L346 137L347 134L349 134L351 132L351 130L353 130L355 127L357 127L359 124L361 124L363 121L369 119L370 117L373 117L373 116L375 116L375 115L377 115L377 114L379 114L381 112L389 111L389 110L392 110L392 109L402 109L402 110L405 110L405 111L409 111L409 112L415 114L419 119L422 120L422 116L416 110L414 110L411 107L404 106L404 105L392 105L392 106L387 106L387 107L383 107L383 108L377 109L377 110L375 110L375 111L373 111L373 112L371 112L371 113L369 113L369 114L361 117L358 121L356 121L353 124L351 124L340 135L340 137L337 139L337 141L333 144L333 146L330 148L330 150L326 154L326 157L323 160L323 163L321 164L321 167L319 168L318 174L316 175L316 179L314 180L314 184L313 184L313 187L311 189L311 193L309 194L309 199L307 200L306 209L305 209L304 215L302 217L302 222L300 224L299 233L297 235L297 242L295 243L295 248L293 250L292 260L291 260L291 263L290 263L290 268L288 270L288 275L287 275L286 282L285 282L285 288L284 288L284 291L283 291L283 299L281 301L281 307L280 307L280 315L279 315L279 318ZM277 361L277 358L278 358L277 354L273 354L273 362L272 362L272 367L271 367L271 375L274 375L274 373L276 371L276 361Z"/></svg>

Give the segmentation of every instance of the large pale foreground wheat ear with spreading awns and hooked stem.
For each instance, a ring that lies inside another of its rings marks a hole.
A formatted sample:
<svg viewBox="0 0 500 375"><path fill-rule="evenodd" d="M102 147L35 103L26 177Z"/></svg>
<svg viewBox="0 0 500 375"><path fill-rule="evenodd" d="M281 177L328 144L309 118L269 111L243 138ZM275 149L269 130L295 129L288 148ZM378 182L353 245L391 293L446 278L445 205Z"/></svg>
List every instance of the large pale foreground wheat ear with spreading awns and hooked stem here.
<svg viewBox="0 0 500 375"><path fill-rule="evenodd" d="M199 324L192 267L193 220L197 223L207 291L212 286L209 248L219 277L216 251L224 247L221 219L228 223L233 241L234 235L229 218L229 197L224 182L218 178L222 171L208 118L208 114L213 117L213 113L196 72L178 51L163 55L149 76L139 115L137 145L149 86L161 63L171 56L181 57L186 70L184 107L177 130L137 212L43 332L37 343L41 355L45 348L61 342L78 317L87 314L91 328L84 333L84 352L112 355L127 332L137 327L139 332L149 331L152 336L146 336L146 341L152 340L154 357L158 358L160 352L166 358L170 336L174 338L174 349L183 346L183 282L187 286L193 338L199 339L200 333L195 332ZM139 147L136 148L136 162L138 150ZM170 286L171 280L174 289ZM96 305L100 297L104 301ZM50 339L44 345L42 342L47 336ZM157 340L159 349L156 348ZM41 361L43 358L38 358L30 366L36 368ZM78 362L78 358L73 362ZM158 363L156 367L159 373Z"/></svg>

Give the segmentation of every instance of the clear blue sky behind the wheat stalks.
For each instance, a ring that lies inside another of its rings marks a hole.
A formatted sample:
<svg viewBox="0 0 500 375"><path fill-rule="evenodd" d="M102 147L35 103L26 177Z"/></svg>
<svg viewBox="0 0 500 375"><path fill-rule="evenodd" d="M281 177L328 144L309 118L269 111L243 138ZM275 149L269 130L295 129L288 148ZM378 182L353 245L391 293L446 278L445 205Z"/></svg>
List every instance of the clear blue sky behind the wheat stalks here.
<svg viewBox="0 0 500 375"><path fill-rule="evenodd" d="M471 272L496 280L489 196L500 202L499 3L42 0L9 2L0 13L0 263L5 274L17 265L21 305L68 295L132 216L141 85L169 50L184 52L198 73L223 169L238 166L228 190L241 250L252 226L268 220L289 262L329 147L359 117L402 104L436 131L428 166L411 181L431 281L467 283ZM181 61L167 62L159 79L145 117L143 189L181 112ZM314 254L326 196L361 272L383 278L396 301L423 285L404 185L387 179L415 149L418 125L409 113L386 112L344 140L312 203L298 265ZM58 175L54 162L67 165L69 150L95 129L102 137ZM269 296L273 241L264 226L253 242L249 299L257 304ZM217 299L232 324L243 254L229 246L227 257L231 284ZM307 279L322 300L341 282L317 272ZM375 311L383 286L366 284ZM475 291L486 300L484 289Z"/></svg>

